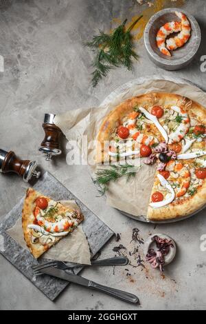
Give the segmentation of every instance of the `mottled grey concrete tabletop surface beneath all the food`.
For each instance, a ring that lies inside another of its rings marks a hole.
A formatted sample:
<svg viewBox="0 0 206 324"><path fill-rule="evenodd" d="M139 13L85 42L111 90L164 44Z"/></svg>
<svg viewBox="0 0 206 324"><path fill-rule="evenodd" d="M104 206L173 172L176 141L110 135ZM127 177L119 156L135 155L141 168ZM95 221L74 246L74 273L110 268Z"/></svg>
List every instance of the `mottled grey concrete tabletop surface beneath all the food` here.
<svg viewBox="0 0 206 324"><path fill-rule="evenodd" d="M184 70L167 72L183 77L206 90L206 72L201 72L200 58L206 54L206 4L204 0L187 0L183 6L200 23L203 41L192 64ZM97 192L87 166L68 166L64 152L52 163L38 154L43 139L41 121L45 112L98 105L117 86L146 74L165 74L148 60L143 40L137 43L139 62L133 72L113 70L93 89L89 83L92 54L83 41L98 28L108 29L113 17L132 17L143 8L132 0L45 0L0 1L0 54L5 70L0 73L0 147L15 150L22 158L38 161L81 199L115 232L122 233L128 246L133 227L146 239L149 232L165 232L178 245L176 260L165 275L146 267L130 267L132 279L123 268L95 268L83 275L104 285L111 285L137 294L141 305L135 309L205 309L206 252L200 250L201 235L206 234L205 212L191 219L170 225L139 223L105 205ZM23 196L27 185L18 176L0 177L0 217L3 217ZM113 256L109 243L102 257ZM71 285L52 303L3 256L0 256L1 310L133 310L134 306L98 292Z"/></svg>

